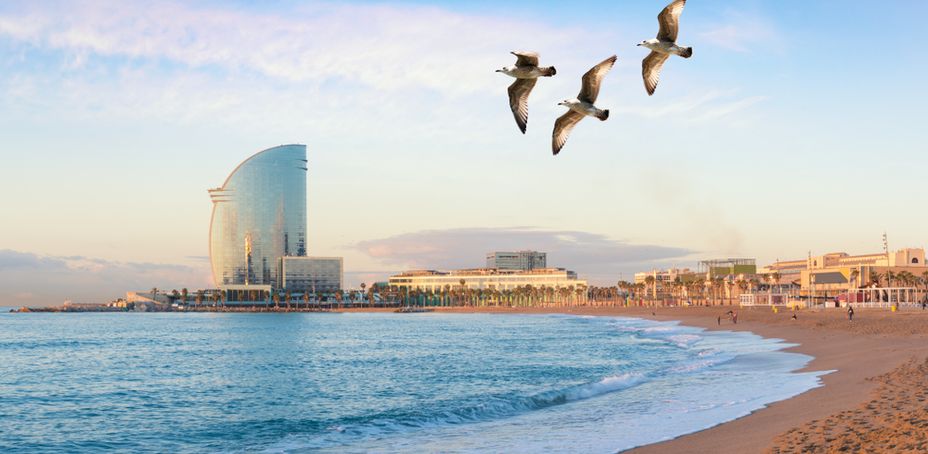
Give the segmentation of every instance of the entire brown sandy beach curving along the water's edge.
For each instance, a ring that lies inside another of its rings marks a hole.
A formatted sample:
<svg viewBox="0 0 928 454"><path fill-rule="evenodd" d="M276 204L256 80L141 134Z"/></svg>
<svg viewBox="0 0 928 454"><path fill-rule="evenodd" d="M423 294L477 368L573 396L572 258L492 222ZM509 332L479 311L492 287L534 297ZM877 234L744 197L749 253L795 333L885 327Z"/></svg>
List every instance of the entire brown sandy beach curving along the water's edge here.
<svg viewBox="0 0 928 454"><path fill-rule="evenodd" d="M738 312L733 324L724 313ZM928 311L769 308L453 308L447 312L567 313L677 320L709 330L751 331L798 344L805 370L833 370L824 386L748 416L634 453L928 451ZM653 315L652 315L653 313ZM722 316L721 324L718 317ZM750 386L745 384L744 386Z"/></svg>

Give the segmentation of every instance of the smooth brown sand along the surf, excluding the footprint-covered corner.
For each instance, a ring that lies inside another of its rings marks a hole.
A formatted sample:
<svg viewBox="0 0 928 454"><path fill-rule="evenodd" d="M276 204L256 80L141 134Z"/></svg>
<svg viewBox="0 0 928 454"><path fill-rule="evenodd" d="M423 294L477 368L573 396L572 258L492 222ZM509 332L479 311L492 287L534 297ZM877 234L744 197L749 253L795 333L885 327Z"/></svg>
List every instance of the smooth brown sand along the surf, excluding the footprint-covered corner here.
<svg viewBox="0 0 928 454"><path fill-rule="evenodd" d="M728 310L738 312L738 323L717 318ZM366 312L346 310L345 312ZM653 312L653 315L652 315ZM750 331L765 338L782 339L793 347L783 351L803 353L813 359L797 372L830 371L821 377L822 386L789 399L769 404L746 416L720 423L677 438L659 441L625 451L647 453L751 453L805 452L809 447L788 446L787 432L801 432L803 426L854 410L870 401L884 384L880 376L889 374L915 360L928 358L928 312L885 309L858 310L853 322L841 309L816 309L773 313L769 308L714 307L559 307L559 308L438 308L435 313L497 314L569 314L593 316L627 316L658 321L678 321L681 325L710 331ZM882 416L886 418L885 413ZM869 427L869 425L867 425ZM839 437L837 435L837 437ZM794 436L795 437L795 436ZM821 435L825 446L811 445L819 451L828 449L838 438ZM819 440L816 440L819 441Z"/></svg>

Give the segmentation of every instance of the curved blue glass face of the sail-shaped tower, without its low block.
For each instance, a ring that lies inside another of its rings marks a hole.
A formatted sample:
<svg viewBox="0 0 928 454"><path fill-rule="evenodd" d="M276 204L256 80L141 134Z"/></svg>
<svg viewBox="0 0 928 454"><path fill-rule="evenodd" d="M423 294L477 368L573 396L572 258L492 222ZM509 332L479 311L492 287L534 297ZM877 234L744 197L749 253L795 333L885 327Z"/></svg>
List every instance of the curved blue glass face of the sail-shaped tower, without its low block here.
<svg viewBox="0 0 928 454"><path fill-rule="evenodd" d="M306 170L306 146L281 145L246 159L209 191L216 286L276 286L280 257L306 255Z"/></svg>

